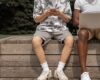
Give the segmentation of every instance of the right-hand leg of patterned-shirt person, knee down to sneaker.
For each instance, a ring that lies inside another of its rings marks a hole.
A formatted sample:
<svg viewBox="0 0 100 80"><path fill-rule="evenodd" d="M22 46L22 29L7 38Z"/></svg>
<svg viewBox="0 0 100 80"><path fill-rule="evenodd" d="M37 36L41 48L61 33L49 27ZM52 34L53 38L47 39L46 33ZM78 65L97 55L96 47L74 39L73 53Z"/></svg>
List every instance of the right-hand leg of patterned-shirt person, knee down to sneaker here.
<svg viewBox="0 0 100 80"><path fill-rule="evenodd" d="M73 46L73 37L69 36L64 40L64 48L61 53L61 59L58 64L57 70L55 70L54 77L59 80L68 80L68 77L64 74L63 68L68 60Z"/></svg>

